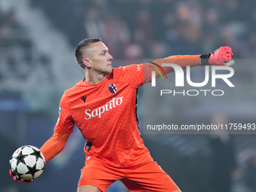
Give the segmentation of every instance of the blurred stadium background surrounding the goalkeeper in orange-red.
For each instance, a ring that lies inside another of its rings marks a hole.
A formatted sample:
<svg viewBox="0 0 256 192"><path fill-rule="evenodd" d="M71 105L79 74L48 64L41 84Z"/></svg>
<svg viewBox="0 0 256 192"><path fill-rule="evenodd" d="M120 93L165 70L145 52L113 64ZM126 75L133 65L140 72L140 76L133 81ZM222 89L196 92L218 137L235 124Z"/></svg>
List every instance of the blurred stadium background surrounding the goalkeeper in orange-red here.
<svg viewBox="0 0 256 192"><path fill-rule="evenodd" d="M221 45L232 47L236 59L254 59L255 7L253 0L0 0L0 190L76 190L85 160L78 129L32 184L13 181L8 160L20 146L41 148L52 136L62 93L84 78L73 54L83 38L102 38L114 67L209 53ZM245 64L233 67L232 82L239 88L225 92L232 96L229 105L226 97L210 99L211 108L207 98L168 99L173 118L255 123L255 65ZM142 134L142 139L182 191L256 191L255 135ZM127 190L117 181L108 191Z"/></svg>

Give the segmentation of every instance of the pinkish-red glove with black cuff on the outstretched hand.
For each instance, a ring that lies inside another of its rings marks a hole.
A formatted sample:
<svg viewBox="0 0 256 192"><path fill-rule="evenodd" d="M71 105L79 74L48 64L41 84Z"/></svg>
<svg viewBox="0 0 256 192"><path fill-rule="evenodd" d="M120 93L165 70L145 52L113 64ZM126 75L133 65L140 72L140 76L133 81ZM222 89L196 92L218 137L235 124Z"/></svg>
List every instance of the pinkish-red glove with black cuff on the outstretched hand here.
<svg viewBox="0 0 256 192"><path fill-rule="evenodd" d="M200 56L200 65L215 65L215 66L227 66L229 64L233 64L233 60L231 61L233 56L232 50L228 46L219 47L212 53L201 55ZM231 63L232 62L232 63Z"/></svg>

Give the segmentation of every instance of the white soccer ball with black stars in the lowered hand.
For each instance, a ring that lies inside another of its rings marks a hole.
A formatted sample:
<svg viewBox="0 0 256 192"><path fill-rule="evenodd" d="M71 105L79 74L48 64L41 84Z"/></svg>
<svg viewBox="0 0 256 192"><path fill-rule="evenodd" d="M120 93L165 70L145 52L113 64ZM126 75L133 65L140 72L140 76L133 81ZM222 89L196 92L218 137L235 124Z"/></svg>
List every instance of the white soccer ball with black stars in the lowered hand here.
<svg viewBox="0 0 256 192"><path fill-rule="evenodd" d="M45 159L41 151L31 145L18 148L10 160L11 171L22 181L32 181L44 170Z"/></svg>

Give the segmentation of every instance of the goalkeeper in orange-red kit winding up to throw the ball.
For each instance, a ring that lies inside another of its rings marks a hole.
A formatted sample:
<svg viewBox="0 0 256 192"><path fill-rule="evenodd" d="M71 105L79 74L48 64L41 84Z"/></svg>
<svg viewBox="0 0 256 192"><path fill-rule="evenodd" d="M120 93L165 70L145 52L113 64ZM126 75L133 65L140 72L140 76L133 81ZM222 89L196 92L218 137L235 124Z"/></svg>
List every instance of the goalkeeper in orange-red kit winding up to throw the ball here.
<svg viewBox="0 0 256 192"><path fill-rule="evenodd" d="M186 66L226 66L230 47L207 55L169 56L154 61ZM66 90L60 100L59 119L53 136L41 147L46 161L65 147L75 124L87 139L86 162L81 169L78 192L106 191L120 180L130 191L180 192L172 178L157 165L145 147L136 117L137 89L151 81L151 63L111 67L113 57L100 38L87 38L75 49L85 78ZM163 67L166 73L171 67ZM11 173L15 179L17 176Z"/></svg>

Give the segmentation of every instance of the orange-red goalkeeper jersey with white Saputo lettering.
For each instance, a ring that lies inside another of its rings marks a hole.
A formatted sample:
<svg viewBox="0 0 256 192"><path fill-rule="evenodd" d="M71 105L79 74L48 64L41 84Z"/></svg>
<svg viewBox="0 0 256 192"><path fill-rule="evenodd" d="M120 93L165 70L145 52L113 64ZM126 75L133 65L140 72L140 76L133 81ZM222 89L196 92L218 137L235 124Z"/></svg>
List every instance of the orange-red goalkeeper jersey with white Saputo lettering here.
<svg viewBox="0 0 256 192"><path fill-rule="evenodd" d="M62 96L55 132L72 133L76 124L87 139L87 156L113 166L150 160L136 117L137 88L142 84L142 64L113 69L99 84L78 82Z"/></svg>

